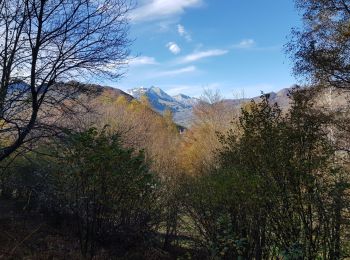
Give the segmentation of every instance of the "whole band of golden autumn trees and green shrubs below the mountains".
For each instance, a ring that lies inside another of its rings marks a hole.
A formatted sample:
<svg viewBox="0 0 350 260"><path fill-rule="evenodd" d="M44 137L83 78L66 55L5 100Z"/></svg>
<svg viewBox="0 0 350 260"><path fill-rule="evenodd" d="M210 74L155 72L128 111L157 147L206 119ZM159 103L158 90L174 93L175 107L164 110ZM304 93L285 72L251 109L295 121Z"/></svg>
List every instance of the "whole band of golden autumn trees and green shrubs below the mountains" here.
<svg viewBox="0 0 350 260"><path fill-rule="evenodd" d="M218 98L200 103L184 134L146 100L102 95L110 113L11 158L2 195L69 230L88 258L346 258L347 111L321 110L317 89L290 95L288 111L263 95L233 120Z"/></svg>

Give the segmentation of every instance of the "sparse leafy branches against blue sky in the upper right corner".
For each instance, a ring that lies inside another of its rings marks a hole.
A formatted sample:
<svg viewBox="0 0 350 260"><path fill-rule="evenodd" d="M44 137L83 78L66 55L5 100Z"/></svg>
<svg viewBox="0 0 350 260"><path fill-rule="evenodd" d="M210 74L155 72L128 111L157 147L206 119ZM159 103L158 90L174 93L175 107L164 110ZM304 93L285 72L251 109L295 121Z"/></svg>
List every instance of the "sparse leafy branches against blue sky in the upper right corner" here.
<svg viewBox="0 0 350 260"><path fill-rule="evenodd" d="M317 85L350 89L350 1L296 0L302 30L294 30L287 50L294 72Z"/></svg>

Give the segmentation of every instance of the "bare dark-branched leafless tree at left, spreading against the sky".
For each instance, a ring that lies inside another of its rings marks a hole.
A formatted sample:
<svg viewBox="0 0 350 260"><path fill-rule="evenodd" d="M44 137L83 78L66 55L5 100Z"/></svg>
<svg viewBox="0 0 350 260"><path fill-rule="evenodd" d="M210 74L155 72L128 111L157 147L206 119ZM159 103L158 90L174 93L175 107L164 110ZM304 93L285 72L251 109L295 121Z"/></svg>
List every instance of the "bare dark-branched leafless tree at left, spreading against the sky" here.
<svg viewBox="0 0 350 260"><path fill-rule="evenodd" d="M59 82L120 76L128 10L127 0L0 1L0 161L76 95Z"/></svg>

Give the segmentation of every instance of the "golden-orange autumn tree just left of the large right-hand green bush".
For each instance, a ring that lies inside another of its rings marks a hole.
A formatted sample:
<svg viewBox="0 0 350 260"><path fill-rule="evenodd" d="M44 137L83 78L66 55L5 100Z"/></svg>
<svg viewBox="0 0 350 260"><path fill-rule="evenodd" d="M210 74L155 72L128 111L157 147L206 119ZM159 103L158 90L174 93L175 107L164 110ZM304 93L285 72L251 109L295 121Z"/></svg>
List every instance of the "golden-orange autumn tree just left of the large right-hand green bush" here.
<svg viewBox="0 0 350 260"><path fill-rule="evenodd" d="M183 135L180 157L184 170L194 175L214 166L214 152L221 147L217 134L230 127L237 110L225 103L219 91L204 90L193 108L193 124Z"/></svg>

